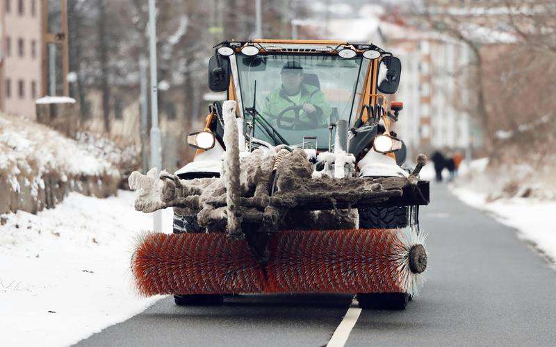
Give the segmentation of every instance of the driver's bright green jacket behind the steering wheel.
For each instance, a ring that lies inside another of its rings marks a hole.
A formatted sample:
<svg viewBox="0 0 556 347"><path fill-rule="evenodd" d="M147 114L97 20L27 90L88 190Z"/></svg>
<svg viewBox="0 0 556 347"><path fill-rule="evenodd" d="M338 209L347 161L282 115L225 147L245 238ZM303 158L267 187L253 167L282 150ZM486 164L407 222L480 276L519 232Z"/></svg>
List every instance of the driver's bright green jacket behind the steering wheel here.
<svg viewBox="0 0 556 347"><path fill-rule="evenodd" d="M275 119L282 110L290 106L302 106L305 103L310 103L311 105L315 106L316 111L312 112L309 115L301 111L300 120L306 122L318 121L318 124L316 124L316 126L328 124L328 119L330 113L332 112L332 107L330 107L330 105L325 100L325 94L322 94L322 92L317 87L306 84L302 84L300 86L300 92L300 101L299 103L295 103L290 98L288 98L288 96L284 92L284 88L272 91L265 98L263 115L270 121L270 119ZM284 117L286 119L293 119L294 115L295 113L292 111L284 114Z"/></svg>

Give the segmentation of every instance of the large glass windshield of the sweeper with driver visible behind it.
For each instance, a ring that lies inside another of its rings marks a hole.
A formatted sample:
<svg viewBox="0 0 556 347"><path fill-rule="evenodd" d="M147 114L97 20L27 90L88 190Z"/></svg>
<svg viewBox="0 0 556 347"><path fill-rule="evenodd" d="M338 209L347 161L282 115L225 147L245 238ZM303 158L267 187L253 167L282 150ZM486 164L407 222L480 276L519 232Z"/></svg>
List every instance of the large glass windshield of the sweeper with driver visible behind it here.
<svg viewBox="0 0 556 347"><path fill-rule="evenodd" d="M275 145L311 136L320 149L328 147L330 119L354 121L368 67L361 57L293 54L238 54L237 63L244 108L253 106L256 83L254 136Z"/></svg>

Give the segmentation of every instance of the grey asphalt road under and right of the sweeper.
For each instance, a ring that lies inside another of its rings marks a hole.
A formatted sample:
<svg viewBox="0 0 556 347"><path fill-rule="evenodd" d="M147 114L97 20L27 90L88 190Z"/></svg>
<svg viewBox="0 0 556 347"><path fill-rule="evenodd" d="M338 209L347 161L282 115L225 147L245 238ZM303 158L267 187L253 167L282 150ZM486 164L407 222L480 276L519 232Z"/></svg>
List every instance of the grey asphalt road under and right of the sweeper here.
<svg viewBox="0 0 556 347"><path fill-rule="evenodd" d="M556 346L556 271L512 230L443 185L422 208L428 232L422 294L407 310L363 310L345 346ZM220 307L165 298L79 346L323 346L347 295L243 295Z"/></svg>

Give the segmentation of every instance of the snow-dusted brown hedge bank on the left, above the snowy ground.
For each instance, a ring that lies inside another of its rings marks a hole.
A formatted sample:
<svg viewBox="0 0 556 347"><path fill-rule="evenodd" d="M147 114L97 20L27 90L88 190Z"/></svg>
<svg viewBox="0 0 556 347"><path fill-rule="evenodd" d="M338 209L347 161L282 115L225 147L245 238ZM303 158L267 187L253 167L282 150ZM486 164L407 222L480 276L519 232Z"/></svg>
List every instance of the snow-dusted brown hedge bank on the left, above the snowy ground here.
<svg viewBox="0 0 556 347"><path fill-rule="evenodd" d="M0 213L54 207L70 191L115 194L121 177L115 163L122 153L96 143L69 139L23 117L0 115Z"/></svg>

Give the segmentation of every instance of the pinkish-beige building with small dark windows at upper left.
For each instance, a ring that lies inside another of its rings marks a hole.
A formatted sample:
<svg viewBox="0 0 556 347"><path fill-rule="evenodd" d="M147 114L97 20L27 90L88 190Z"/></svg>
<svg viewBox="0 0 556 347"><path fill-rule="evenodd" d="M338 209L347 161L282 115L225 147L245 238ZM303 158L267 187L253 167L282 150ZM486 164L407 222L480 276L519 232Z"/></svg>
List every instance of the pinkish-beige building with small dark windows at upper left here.
<svg viewBox="0 0 556 347"><path fill-rule="evenodd" d="M30 119L41 96L41 2L0 2L0 111Z"/></svg>

